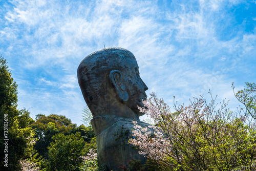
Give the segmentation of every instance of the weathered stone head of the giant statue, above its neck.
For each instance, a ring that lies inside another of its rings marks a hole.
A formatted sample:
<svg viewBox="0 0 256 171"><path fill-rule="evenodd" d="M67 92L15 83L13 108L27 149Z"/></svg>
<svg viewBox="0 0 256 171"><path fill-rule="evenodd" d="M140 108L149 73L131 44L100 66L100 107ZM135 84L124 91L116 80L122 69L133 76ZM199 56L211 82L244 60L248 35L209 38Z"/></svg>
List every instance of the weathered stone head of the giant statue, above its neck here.
<svg viewBox="0 0 256 171"><path fill-rule="evenodd" d="M78 83L93 117L116 115L138 119L148 89L139 75L135 56L112 47L93 52L77 70Z"/></svg>

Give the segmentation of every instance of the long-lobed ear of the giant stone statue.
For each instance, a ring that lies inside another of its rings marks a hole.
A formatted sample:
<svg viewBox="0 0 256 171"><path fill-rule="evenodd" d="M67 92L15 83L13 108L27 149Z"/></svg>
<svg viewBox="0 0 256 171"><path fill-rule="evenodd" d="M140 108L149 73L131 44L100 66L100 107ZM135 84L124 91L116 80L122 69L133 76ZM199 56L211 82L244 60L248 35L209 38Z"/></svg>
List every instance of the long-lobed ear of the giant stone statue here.
<svg viewBox="0 0 256 171"><path fill-rule="evenodd" d="M125 103L128 100L129 95L125 91L125 86L122 83L122 73L118 70L112 70L110 72L110 82L112 83L120 101Z"/></svg>

